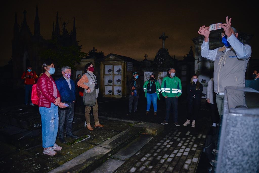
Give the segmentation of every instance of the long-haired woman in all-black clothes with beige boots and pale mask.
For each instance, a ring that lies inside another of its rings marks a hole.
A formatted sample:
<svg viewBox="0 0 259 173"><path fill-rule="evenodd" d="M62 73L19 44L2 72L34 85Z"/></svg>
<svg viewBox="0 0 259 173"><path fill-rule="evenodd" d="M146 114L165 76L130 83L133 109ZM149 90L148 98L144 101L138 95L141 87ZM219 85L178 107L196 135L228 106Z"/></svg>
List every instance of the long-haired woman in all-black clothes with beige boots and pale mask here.
<svg viewBox="0 0 259 173"><path fill-rule="evenodd" d="M199 83L198 75L194 74L191 78L191 82L187 86L187 120L183 124L187 126L190 124L190 120L192 119L192 127L195 127L195 120L197 119L198 112L200 110L200 103L202 101L202 90L203 86Z"/></svg>

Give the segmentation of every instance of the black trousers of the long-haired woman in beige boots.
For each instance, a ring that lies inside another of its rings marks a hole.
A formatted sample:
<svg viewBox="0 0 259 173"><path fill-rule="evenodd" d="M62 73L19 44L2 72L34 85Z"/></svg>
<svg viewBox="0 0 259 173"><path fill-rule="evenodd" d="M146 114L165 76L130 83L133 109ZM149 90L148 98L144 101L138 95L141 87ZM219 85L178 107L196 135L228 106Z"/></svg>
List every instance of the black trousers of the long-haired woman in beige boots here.
<svg viewBox="0 0 259 173"><path fill-rule="evenodd" d="M197 116L200 110L200 102L201 100L197 100L195 97L193 97L192 100L188 102L188 113L186 117L188 120L197 120Z"/></svg>

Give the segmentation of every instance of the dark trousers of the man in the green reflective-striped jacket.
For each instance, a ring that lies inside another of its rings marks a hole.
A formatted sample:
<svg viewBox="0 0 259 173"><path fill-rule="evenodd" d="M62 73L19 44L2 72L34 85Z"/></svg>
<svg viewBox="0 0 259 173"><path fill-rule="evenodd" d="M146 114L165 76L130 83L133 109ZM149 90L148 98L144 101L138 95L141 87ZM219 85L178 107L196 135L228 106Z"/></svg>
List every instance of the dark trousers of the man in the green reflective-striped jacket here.
<svg viewBox="0 0 259 173"><path fill-rule="evenodd" d="M174 122L178 122L178 97L167 97L165 98L166 102L166 118L165 121L168 122L169 115L170 115L170 109L172 107L173 109L173 115L174 115Z"/></svg>

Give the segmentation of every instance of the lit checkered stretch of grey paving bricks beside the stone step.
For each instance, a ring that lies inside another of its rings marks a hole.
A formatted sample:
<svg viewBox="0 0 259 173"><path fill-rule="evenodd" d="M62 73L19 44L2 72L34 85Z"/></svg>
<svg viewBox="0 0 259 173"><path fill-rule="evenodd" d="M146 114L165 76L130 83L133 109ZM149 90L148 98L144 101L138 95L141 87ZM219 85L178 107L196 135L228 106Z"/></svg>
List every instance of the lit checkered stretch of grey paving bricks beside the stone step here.
<svg viewBox="0 0 259 173"><path fill-rule="evenodd" d="M195 172L206 135L185 129L167 133L130 172Z"/></svg>

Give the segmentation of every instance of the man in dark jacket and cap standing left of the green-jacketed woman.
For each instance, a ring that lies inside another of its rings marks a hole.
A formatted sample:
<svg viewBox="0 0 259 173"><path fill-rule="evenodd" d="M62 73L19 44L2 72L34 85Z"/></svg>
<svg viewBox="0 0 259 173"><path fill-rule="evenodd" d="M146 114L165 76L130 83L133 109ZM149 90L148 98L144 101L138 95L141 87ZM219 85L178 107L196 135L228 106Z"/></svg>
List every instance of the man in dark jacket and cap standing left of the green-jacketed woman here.
<svg viewBox="0 0 259 173"><path fill-rule="evenodd" d="M140 81L138 80L139 75L135 71L132 73L133 77L130 79L130 96L129 96L129 112L127 115L131 115L132 112L132 103L134 100L134 113L137 113L137 108L138 108L138 100L139 100L139 89L140 89Z"/></svg>

